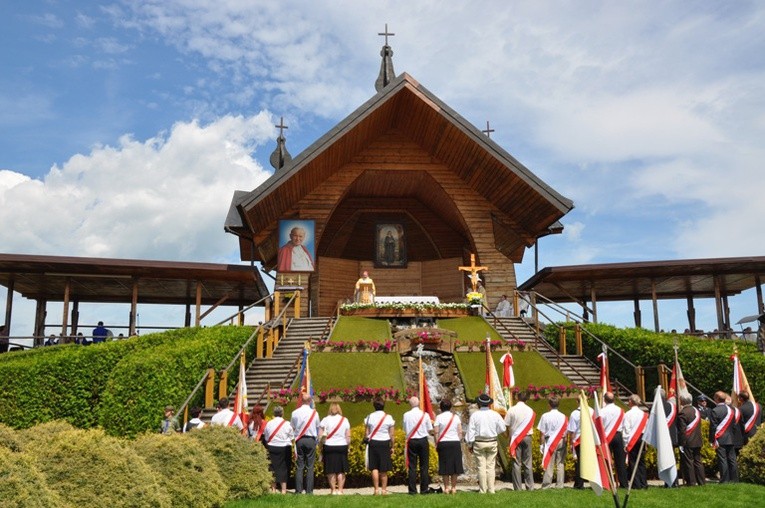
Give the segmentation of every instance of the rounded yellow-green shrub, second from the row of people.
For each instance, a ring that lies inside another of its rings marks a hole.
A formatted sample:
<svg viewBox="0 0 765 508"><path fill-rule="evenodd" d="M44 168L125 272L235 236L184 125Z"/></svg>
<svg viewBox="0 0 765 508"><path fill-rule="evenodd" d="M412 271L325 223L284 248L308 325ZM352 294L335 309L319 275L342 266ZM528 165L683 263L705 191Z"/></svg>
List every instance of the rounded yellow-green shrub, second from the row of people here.
<svg viewBox="0 0 765 508"><path fill-rule="evenodd" d="M131 443L156 473L172 506L222 506L226 485L215 460L187 434L144 434Z"/></svg>

